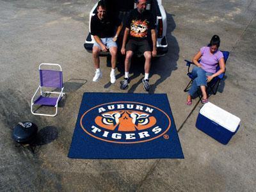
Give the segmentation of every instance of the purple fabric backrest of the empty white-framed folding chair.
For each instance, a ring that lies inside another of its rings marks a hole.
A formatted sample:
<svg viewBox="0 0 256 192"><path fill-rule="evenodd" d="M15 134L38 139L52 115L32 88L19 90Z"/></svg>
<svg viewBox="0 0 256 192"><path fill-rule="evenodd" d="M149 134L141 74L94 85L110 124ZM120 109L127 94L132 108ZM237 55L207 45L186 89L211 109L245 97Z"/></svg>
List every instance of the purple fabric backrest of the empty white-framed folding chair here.
<svg viewBox="0 0 256 192"><path fill-rule="evenodd" d="M41 86L62 88L62 72L58 70L39 70Z"/></svg>

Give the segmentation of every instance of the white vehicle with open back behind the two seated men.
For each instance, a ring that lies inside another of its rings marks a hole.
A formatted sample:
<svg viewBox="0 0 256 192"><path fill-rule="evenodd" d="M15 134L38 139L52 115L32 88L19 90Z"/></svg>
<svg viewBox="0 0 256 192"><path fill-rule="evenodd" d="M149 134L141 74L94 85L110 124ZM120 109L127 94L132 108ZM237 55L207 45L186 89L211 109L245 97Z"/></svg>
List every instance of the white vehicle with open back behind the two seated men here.
<svg viewBox="0 0 256 192"><path fill-rule="evenodd" d="M106 0L108 3L108 0ZM147 10L150 10L154 16L154 20L156 22L156 34L157 34L157 56L164 56L166 52L168 52L168 44L166 40L166 13L164 11L162 1L161 0L148 0L147 1ZM113 0L109 0L109 7L113 7L114 3ZM134 0L125 0L125 1L115 1L115 15L116 17L119 17L123 21L123 24L125 24L125 19L127 17L127 13L129 13L130 10L136 8L136 3L134 3ZM108 9L109 10L109 9ZM112 10L113 12L113 10ZM90 12L90 18L89 18L89 30L91 26L91 19L93 15L97 14L97 3L93 6L91 12ZM124 27L125 28L125 27ZM124 28L122 31L124 31ZM118 37L118 48L122 46L122 37L123 34L121 33L120 37ZM93 36L91 35L90 31L88 33L88 36L84 42L84 48L88 52L92 52L92 47L95 40ZM104 54L104 52L101 52L101 54Z"/></svg>

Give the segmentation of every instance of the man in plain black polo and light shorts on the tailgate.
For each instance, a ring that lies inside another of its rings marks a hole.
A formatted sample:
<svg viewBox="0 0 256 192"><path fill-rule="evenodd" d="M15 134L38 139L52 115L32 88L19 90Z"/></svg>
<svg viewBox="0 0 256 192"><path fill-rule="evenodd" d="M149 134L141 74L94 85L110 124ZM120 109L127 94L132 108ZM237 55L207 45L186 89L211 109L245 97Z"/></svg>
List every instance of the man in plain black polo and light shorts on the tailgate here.
<svg viewBox="0 0 256 192"><path fill-rule="evenodd" d="M117 27L116 33L115 29ZM115 67L116 67L116 54L117 45L116 39L122 29L122 22L119 19L111 19L106 15L106 4L104 1L99 1L97 5L97 14L92 17L91 20L91 34L95 40L92 49L92 56L94 61L94 66L96 69L93 81L99 81L102 77L100 71L100 51L109 51L111 54L111 73L110 82L115 83Z"/></svg>

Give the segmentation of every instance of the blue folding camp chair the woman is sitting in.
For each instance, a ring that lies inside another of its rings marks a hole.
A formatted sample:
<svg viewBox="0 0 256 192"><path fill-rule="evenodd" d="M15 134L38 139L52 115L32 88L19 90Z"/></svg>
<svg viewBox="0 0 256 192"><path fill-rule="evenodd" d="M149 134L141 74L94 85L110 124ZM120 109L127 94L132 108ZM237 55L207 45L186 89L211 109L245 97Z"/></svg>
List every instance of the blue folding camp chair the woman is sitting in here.
<svg viewBox="0 0 256 192"><path fill-rule="evenodd" d="M226 61L228 60L228 56L229 56L229 52L228 51L221 51L223 53L224 56L224 61L225 61L225 65L226 65ZM188 85L186 86L186 88L184 89L184 92L188 92L189 88L191 87L192 82L194 81L195 77L192 76L191 71L189 70L191 64L194 64L191 61L188 60L184 60L186 61L186 65L188 66L188 73L187 76L191 79L191 81L189 81ZM216 72L220 70L220 66L218 65L218 67L216 68ZM225 67L225 71L226 71L226 67ZM220 84L221 79L223 79L225 75L225 72L223 72L222 74L220 74L217 77L214 77L212 79L212 81L210 81L209 83L207 83L207 93L210 94L212 92L213 95L216 95L217 91L218 91L218 87ZM200 100L202 102L202 96L200 95L200 93L198 92L198 96L200 97Z"/></svg>

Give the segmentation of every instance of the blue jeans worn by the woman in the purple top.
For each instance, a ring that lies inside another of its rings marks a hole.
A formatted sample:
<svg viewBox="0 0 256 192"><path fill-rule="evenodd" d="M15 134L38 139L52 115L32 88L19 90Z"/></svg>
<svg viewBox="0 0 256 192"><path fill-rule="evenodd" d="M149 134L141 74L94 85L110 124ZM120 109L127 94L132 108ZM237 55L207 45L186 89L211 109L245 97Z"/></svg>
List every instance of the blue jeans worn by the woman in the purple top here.
<svg viewBox="0 0 256 192"><path fill-rule="evenodd" d="M194 67L191 74L195 79L191 84L191 88L188 93L193 96L200 86L207 86L207 76L211 76L212 73L205 72L205 70L200 67Z"/></svg>

